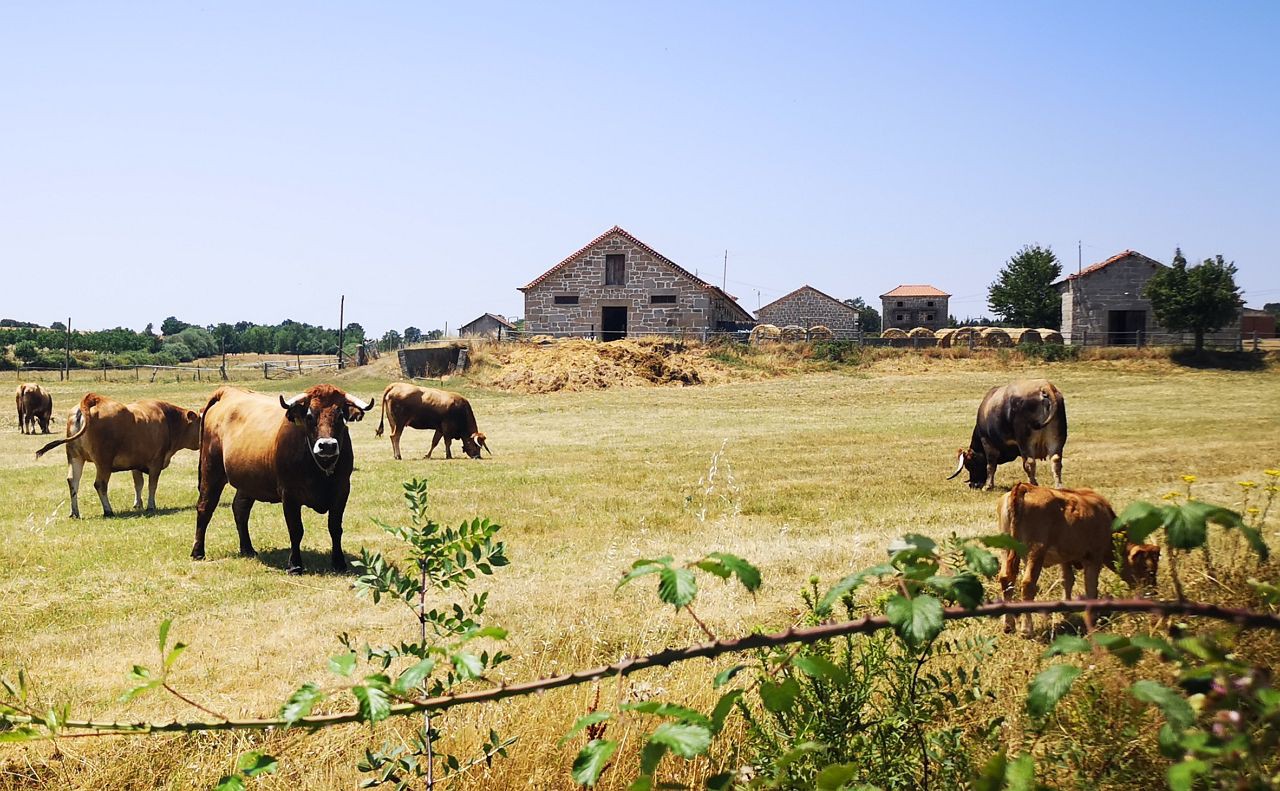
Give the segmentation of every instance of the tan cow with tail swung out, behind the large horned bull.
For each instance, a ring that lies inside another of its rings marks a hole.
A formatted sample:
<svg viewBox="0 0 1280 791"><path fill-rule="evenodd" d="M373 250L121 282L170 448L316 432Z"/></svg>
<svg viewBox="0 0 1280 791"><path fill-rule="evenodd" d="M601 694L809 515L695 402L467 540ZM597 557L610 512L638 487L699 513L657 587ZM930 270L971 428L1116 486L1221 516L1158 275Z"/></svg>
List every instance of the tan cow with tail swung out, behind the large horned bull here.
<svg viewBox="0 0 1280 791"><path fill-rule="evenodd" d="M72 518L79 518L79 481L84 462L97 472L93 489L102 500L102 516L115 516L106 499L113 472L133 472L133 507L142 508L142 474L147 474L147 512L156 509L156 484L174 453L200 448L200 415L166 401L143 398L120 403L88 393L67 416L67 438L40 451L40 458L58 445L67 445L67 486L72 493Z"/></svg>

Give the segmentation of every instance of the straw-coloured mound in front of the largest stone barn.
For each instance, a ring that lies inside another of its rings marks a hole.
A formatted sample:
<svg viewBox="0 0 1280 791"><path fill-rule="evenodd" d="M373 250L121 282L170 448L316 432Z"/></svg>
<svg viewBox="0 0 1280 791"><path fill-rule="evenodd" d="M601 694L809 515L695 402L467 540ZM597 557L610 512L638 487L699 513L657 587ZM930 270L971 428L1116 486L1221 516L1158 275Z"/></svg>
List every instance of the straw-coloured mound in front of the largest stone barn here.
<svg viewBox="0 0 1280 791"><path fill-rule="evenodd" d="M727 366L712 360L708 347L664 338L502 344L477 353L472 362L476 383L521 393L684 387L728 379Z"/></svg>

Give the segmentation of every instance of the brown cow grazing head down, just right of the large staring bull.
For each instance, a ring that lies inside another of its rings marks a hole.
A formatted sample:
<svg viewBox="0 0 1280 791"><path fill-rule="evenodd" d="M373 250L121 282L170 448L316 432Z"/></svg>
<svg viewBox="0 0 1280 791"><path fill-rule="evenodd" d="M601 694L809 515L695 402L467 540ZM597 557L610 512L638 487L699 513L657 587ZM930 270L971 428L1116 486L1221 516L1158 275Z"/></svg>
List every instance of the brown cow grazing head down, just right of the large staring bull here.
<svg viewBox="0 0 1280 791"><path fill-rule="evenodd" d="M392 424L392 453L399 458L399 438L404 429L435 429L431 458L435 445L444 438L444 458L453 458L453 440L462 440L462 451L471 458L480 458L480 448L489 451L485 435L476 429L476 416L471 403L457 393L434 390L397 381L383 390L383 416L378 421L374 436L383 435L383 425ZM489 451L493 456L493 451Z"/></svg>

